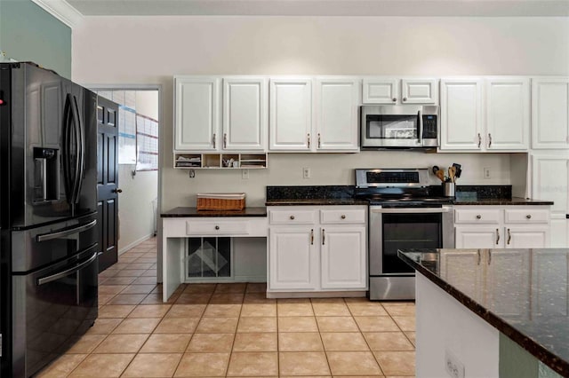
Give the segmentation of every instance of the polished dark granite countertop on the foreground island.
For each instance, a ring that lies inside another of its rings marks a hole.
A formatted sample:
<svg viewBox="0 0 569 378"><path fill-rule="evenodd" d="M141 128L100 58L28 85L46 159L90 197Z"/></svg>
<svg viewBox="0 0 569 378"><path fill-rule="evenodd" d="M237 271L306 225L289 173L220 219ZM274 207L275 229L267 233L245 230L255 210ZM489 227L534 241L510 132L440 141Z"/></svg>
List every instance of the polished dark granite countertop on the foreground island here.
<svg viewBox="0 0 569 378"><path fill-rule="evenodd" d="M517 264L506 261L511 252L511 249L401 249L397 255L545 365L569 376L566 311L569 248L516 249ZM464 258L461 264L445 264L449 253L454 255L453 259L460 258L456 254L461 253L480 254L482 264L477 264L477 258ZM441 269L441 264L445 264L445 269ZM492 272L493 266L499 267L500 272ZM486 273L468 274L480 269ZM504 301L495 300L496 293L507 293L508 298L517 299L514 303L517 315L511 315L512 311L510 315L501 313L507 310Z"/></svg>

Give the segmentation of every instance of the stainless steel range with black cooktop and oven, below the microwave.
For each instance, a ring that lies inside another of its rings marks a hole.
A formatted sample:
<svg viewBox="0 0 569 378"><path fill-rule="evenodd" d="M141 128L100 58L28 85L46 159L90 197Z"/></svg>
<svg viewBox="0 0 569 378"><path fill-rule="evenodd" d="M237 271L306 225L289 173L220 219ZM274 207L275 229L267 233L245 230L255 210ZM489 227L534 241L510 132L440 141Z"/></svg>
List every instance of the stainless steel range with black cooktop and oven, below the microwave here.
<svg viewBox="0 0 569 378"><path fill-rule="evenodd" d="M415 298L415 273L397 249L454 248L453 199L429 186L428 169L356 169L356 197L370 201L370 299Z"/></svg>

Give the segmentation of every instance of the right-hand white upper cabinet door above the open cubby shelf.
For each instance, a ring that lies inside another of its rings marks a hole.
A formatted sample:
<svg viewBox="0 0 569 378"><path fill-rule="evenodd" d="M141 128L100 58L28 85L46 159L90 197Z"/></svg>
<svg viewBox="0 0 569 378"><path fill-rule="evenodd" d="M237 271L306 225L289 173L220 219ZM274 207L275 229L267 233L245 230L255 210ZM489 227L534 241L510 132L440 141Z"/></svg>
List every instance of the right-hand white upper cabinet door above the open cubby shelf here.
<svg viewBox="0 0 569 378"><path fill-rule="evenodd" d="M223 79L223 149L265 150L267 106L266 79Z"/></svg>

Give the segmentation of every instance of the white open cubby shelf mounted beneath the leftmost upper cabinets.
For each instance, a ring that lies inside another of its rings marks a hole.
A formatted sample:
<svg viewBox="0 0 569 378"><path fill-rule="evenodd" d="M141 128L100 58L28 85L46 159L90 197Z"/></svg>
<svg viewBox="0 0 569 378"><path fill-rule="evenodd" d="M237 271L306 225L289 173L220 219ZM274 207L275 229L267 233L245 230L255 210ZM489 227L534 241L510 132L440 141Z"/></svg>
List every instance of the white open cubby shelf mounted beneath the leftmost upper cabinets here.
<svg viewBox="0 0 569 378"><path fill-rule="evenodd" d="M265 169L268 154L186 154L174 152L178 169Z"/></svg>

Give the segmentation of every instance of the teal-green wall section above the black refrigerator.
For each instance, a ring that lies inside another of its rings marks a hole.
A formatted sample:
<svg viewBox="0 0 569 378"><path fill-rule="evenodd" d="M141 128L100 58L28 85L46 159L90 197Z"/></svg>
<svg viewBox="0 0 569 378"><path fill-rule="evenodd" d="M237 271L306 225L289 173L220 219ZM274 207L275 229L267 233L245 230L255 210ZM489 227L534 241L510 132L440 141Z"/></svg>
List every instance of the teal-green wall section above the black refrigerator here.
<svg viewBox="0 0 569 378"><path fill-rule="evenodd" d="M71 28L31 0L0 0L0 50L71 78Z"/></svg>

